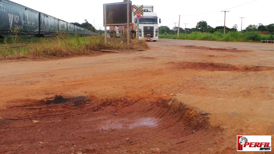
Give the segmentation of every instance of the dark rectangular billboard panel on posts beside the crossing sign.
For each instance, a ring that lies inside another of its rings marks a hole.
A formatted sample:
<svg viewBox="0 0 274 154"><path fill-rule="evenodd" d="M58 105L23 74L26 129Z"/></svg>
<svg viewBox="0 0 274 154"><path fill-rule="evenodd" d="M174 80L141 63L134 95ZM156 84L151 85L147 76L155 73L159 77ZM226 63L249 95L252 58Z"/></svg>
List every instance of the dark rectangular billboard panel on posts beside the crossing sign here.
<svg viewBox="0 0 274 154"><path fill-rule="evenodd" d="M106 11L105 7L106 6ZM127 8L127 2L120 3L108 3L103 5L104 10L104 26L106 17L106 26L118 26L127 25L127 9L129 9L129 24L132 24L132 2L129 1L129 6ZM105 15L106 13L106 15Z"/></svg>

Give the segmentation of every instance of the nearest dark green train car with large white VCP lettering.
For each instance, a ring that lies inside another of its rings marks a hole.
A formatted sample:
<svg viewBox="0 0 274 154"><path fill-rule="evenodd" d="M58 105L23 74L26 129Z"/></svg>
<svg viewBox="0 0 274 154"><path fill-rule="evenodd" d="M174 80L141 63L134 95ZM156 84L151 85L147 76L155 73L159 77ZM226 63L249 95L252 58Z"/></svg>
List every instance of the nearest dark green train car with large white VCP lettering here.
<svg viewBox="0 0 274 154"><path fill-rule="evenodd" d="M20 37L33 37L39 33L39 12L23 5L7 1L0 1L0 35L12 37L19 29Z"/></svg>

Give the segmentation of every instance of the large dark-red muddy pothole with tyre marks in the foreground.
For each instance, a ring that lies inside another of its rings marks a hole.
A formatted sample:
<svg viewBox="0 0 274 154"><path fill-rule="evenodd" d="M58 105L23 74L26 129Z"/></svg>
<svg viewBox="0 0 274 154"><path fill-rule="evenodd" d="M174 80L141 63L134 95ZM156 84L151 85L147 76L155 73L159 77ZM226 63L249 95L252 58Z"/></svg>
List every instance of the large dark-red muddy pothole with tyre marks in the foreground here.
<svg viewBox="0 0 274 154"><path fill-rule="evenodd" d="M73 99L63 100L57 104L48 103L52 99L28 101L28 104L7 108L9 112L1 111L9 113L1 114L3 119L14 116L18 110L24 114L0 129L0 144L5 145L0 153L55 150L63 153L182 152L191 149L184 144L204 146L198 140L205 139L206 144L211 144L212 134L220 131L210 128L207 117L194 108L162 98L99 101L90 97L78 100L80 103ZM3 119L0 119L1 123ZM33 123L32 119L39 122Z"/></svg>

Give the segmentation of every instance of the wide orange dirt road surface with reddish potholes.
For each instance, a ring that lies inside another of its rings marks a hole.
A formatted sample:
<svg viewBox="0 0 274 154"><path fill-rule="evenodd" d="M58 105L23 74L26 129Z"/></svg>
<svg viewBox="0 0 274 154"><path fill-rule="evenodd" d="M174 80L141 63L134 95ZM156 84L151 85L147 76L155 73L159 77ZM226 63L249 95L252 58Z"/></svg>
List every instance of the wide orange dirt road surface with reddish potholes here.
<svg viewBox="0 0 274 154"><path fill-rule="evenodd" d="M274 135L274 44L0 62L0 153L236 153Z"/></svg>

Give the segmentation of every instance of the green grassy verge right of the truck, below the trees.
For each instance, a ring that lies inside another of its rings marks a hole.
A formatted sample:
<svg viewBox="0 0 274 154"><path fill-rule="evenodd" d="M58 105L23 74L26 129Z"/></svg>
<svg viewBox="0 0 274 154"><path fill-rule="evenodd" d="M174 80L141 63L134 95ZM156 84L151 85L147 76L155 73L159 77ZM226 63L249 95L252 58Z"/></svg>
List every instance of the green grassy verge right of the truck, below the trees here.
<svg viewBox="0 0 274 154"><path fill-rule="evenodd" d="M159 38L181 39L181 40L211 40L211 41L230 41L230 42L261 42L261 40L269 40L270 35L262 35L259 32L228 32L223 34L192 32L191 34L180 33L177 35L159 35Z"/></svg>

